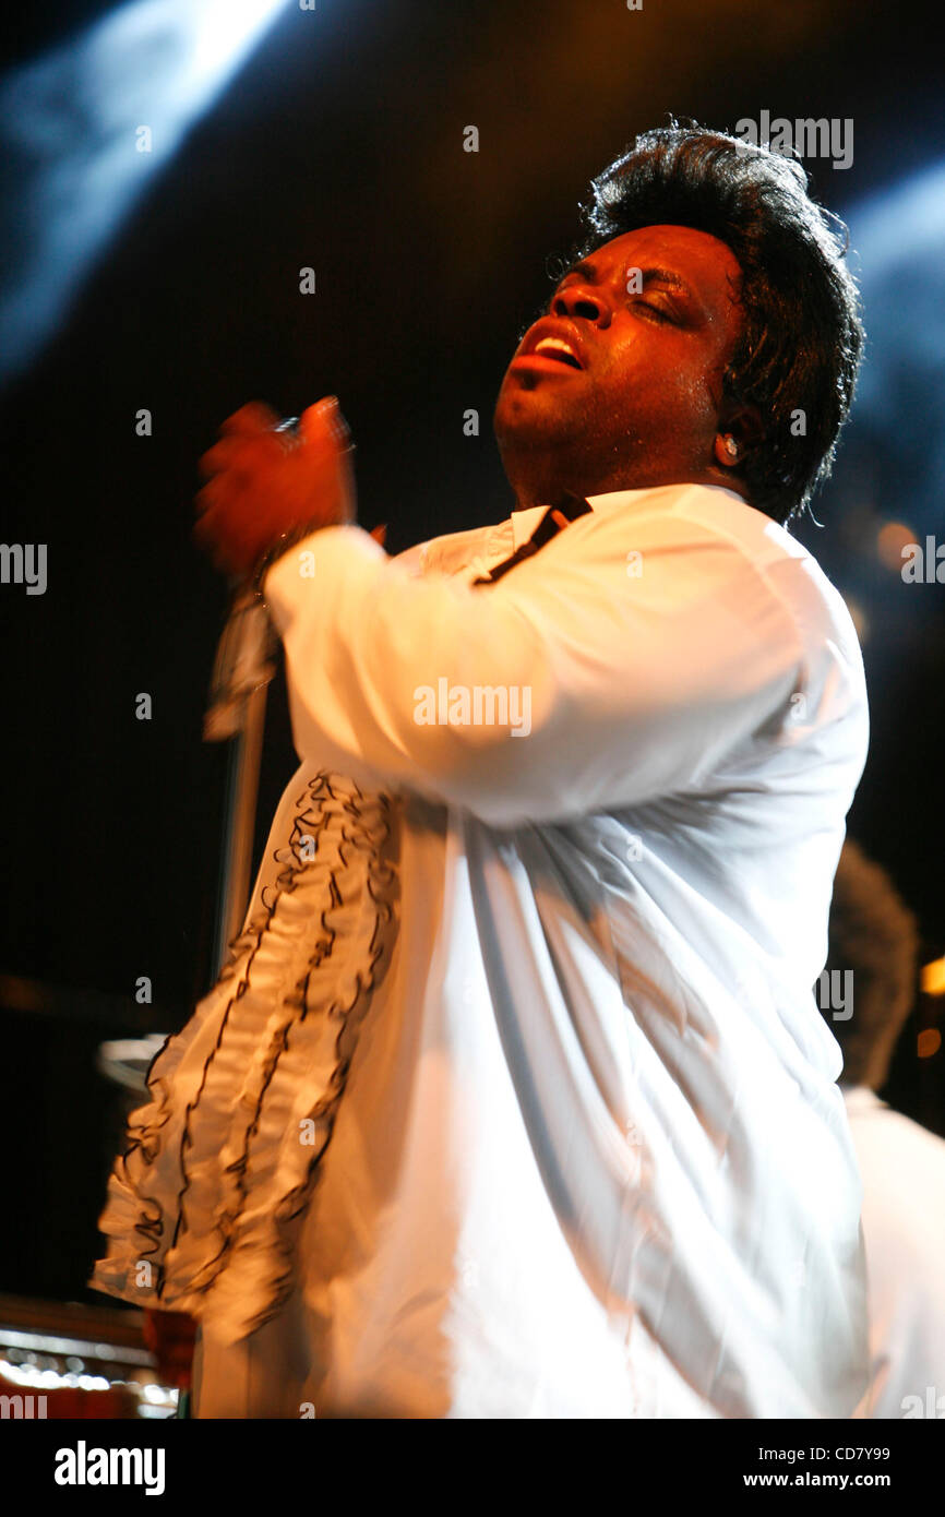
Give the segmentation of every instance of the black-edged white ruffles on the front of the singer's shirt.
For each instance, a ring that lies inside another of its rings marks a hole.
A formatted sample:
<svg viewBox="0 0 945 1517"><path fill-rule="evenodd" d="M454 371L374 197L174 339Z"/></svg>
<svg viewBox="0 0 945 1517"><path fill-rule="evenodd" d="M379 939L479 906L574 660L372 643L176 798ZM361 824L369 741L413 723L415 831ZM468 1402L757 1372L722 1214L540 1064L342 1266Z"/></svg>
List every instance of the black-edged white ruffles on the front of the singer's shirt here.
<svg viewBox="0 0 945 1517"><path fill-rule="evenodd" d="M88 1285L238 1341L290 1296L364 1015L399 922L391 796L319 772L231 960L147 1074Z"/></svg>

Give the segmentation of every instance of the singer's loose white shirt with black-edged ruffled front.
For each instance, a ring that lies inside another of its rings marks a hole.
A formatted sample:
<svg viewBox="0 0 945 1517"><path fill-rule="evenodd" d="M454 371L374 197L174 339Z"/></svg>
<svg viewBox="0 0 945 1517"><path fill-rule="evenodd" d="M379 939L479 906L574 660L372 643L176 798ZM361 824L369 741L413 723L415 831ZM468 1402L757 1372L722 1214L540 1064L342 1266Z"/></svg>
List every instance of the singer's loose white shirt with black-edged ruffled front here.
<svg viewBox="0 0 945 1517"><path fill-rule="evenodd" d="M590 505L494 584L473 581L543 507L396 558L326 528L265 578L302 768L247 922L262 942L276 900L272 924L284 910L297 941L285 860L319 834L314 874L291 878L347 871L343 889L325 874L325 910L349 912L331 942L369 994L296 1206L288 1294L249 1338L237 1308L272 1299L264 1230L297 1182L308 1107L287 1091L319 1063L300 1053L319 1018L344 1007L309 991L311 1016L265 1027L256 985L240 1044L250 974L244 1001L217 988L171 1039L146 1157L155 1133L177 1144L188 1092L220 1071L191 1230L164 1255L164 1303L202 1315L199 1415L848 1417L860 1399L860 1183L812 991L868 746L857 637L816 561L733 492ZM234 1071L253 1047L268 1053L247 1094ZM268 1071L278 1085L293 1057L267 1129ZM288 1135L275 1168L259 1154L256 1191L253 1110L256 1144ZM244 1276L231 1265L228 1288L217 1262L188 1294L224 1185L221 1256ZM91 1283L141 1299L129 1218L174 1186L179 1170L144 1168L135 1198L126 1174L124 1259Z"/></svg>

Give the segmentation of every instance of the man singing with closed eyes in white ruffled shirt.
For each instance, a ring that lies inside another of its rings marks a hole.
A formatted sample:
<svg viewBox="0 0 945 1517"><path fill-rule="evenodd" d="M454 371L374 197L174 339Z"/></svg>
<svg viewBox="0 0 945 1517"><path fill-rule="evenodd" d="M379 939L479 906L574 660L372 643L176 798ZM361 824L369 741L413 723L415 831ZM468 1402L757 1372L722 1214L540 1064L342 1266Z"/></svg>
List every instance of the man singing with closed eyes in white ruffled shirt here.
<svg viewBox="0 0 945 1517"><path fill-rule="evenodd" d="M786 523L863 332L798 164L649 132L519 344L498 525L388 557L332 399L203 460L302 760L150 1071L91 1283L199 1417L848 1417L860 1185L812 986L863 771Z"/></svg>

